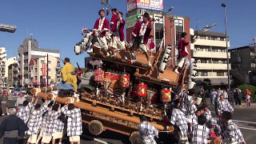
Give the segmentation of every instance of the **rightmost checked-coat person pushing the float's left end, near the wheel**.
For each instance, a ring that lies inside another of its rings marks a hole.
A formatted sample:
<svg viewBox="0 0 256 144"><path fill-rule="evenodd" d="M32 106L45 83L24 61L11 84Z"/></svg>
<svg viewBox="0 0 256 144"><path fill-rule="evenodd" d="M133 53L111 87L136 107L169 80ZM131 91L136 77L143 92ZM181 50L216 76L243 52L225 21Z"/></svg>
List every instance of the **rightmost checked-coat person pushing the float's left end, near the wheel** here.
<svg viewBox="0 0 256 144"><path fill-rule="evenodd" d="M81 110L70 103L62 107L62 113L67 117L67 136L70 137L70 143L78 142L80 144L80 135L82 135Z"/></svg>

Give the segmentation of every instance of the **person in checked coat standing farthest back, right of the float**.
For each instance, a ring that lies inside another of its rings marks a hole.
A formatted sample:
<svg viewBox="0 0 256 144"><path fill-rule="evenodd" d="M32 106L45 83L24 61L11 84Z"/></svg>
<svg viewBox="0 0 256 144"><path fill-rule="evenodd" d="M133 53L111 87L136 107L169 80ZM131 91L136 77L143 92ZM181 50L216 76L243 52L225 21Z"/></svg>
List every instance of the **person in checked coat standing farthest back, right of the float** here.
<svg viewBox="0 0 256 144"><path fill-rule="evenodd" d="M230 102L224 98L223 94L221 94L220 101L218 102L217 106L218 116L220 116L223 111L229 111L230 113L233 113L234 111L233 107L230 105Z"/></svg>

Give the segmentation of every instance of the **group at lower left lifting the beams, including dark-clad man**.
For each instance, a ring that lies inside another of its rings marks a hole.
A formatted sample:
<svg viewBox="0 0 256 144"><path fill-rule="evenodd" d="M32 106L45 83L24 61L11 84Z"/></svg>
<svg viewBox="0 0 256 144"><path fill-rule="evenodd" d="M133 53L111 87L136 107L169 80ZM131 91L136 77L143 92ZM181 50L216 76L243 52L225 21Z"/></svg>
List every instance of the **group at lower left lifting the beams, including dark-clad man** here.
<svg viewBox="0 0 256 144"><path fill-rule="evenodd" d="M38 144L40 141L42 144L54 144L57 139L61 144L65 136L64 127L70 143L80 144L81 110L73 103L61 106L58 102L44 101L40 105L38 98L33 97L31 102L24 101L18 112L16 108L9 109L10 115L5 115L0 126L0 137L4 137L4 144L17 144L18 138L27 138L27 144Z"/></svg>

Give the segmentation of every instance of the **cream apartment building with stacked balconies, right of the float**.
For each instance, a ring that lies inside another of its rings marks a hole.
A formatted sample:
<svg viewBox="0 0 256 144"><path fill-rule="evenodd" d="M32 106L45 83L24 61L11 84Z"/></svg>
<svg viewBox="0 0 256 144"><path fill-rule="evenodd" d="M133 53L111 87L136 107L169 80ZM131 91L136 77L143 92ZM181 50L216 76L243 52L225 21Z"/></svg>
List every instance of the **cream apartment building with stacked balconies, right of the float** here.
<svg viewBox="0 0 256 144"><path fill-rule="evenodd" d="M226 34L210 31L194 31L197 40L191 44L191 57L197 62L195 81L210 79L213 86L227 85ZM230 42L228 42L230 47ZM230 53L229 53L230 58ZM230 65L231 69L231 65Z"/></svg>

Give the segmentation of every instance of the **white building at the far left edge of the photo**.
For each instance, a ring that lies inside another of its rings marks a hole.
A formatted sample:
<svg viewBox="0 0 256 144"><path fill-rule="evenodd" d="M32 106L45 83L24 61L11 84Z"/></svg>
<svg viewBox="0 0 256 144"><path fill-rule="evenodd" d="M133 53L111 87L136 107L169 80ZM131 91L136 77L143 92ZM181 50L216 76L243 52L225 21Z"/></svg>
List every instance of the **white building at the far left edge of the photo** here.
<svg viewBox="0 0 256 144"><path fill-rule="evenodd" d="M6 48L0 47L0 87L6 87L8 82L8 66L16 61L16 57L6 58Z"/></svg>

